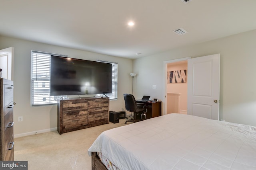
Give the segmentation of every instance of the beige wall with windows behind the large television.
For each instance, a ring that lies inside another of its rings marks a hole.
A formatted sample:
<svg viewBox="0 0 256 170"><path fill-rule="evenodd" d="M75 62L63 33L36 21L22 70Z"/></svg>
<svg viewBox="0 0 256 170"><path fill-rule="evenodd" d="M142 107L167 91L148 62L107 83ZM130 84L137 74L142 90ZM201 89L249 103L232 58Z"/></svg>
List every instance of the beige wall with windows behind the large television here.
<svg viewBox="0 0 256 170"><path fill-rule="evenodd" d="M118 63L118 100L110 101L110 110L124 110L122 94L132 92L132 60L90 53L0 36L0 49L14 47L14 135L31 135L56 129L57 106L30 106L30 60L31 50L65 54L72 58L96 61L104 60ZM130 114L130 113L128 113ZM18 117L23 121L18 122Z"/></svg>

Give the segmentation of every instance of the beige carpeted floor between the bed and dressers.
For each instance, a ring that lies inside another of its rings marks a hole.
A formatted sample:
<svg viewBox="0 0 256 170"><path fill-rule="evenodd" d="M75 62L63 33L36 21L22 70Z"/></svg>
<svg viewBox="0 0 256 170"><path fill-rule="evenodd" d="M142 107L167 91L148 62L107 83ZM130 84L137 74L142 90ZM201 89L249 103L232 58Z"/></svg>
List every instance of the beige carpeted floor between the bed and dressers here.
<svg viewBox="0 0 256 170"><path fill-rule="evenodd" d="M14 160L28 161L28 170L91 170L87 150L108 129L123 126L109 123L59 135L58 131L14 139ZM130 123L127 123L130 124Z"/></svg>

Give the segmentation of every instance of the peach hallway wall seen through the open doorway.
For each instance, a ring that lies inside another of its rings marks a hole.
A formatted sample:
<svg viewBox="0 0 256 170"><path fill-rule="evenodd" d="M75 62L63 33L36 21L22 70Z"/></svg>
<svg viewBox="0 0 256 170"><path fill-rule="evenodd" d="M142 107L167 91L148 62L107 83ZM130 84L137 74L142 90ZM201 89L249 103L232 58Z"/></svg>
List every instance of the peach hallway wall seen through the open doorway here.
<svg viewBox="0 0 256 170"><path fill-rule="evenodd" d="M188 69L188 62L187 61L180 61L175 63L168 63L167 64L167 71L175 71L175 70L187 70ZM167 93L174 93L174 94L167 94L167 113L186 113L187 111L187 95L188 95L188 88L187 83L167 83L166 84L166 92ZM178 93L178 94L176 94ZM178 99L178 112L176 109L176 98ZM170 101L170 102L168 102Z"/></svg>

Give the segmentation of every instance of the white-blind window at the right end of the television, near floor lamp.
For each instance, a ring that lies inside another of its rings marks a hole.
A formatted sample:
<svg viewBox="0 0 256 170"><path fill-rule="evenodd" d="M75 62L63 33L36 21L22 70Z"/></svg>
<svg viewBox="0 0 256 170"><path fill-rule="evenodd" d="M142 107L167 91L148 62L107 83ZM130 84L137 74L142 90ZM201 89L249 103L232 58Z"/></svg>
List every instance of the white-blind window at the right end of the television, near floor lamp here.
<svg viewBox="0 0 256 170"><path fill-rule="evenodd" d="M117 74L118 74L117 68L118 68L118 64L108 62L108 61L100 61L100 60L97 60L97 61L112 64L112 93L106 94L106 96L108 96L110 100L116 100L117 99ZM103 94L97 94L97 96L102 96L102 95Z"/></svg>

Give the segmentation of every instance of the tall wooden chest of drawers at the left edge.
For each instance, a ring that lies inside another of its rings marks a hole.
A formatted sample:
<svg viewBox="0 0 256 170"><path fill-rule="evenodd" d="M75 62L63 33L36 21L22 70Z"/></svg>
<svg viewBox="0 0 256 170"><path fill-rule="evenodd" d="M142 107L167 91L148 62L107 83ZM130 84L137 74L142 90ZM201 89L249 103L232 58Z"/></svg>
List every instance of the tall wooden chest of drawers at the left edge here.
<svg viewBox="0 0 256 170"><path fill-rule="evenodd" d="M14 138L13 138L13 82L0 78L0 115L1 115L1 147L0 160L14 160Z"/></svg>

